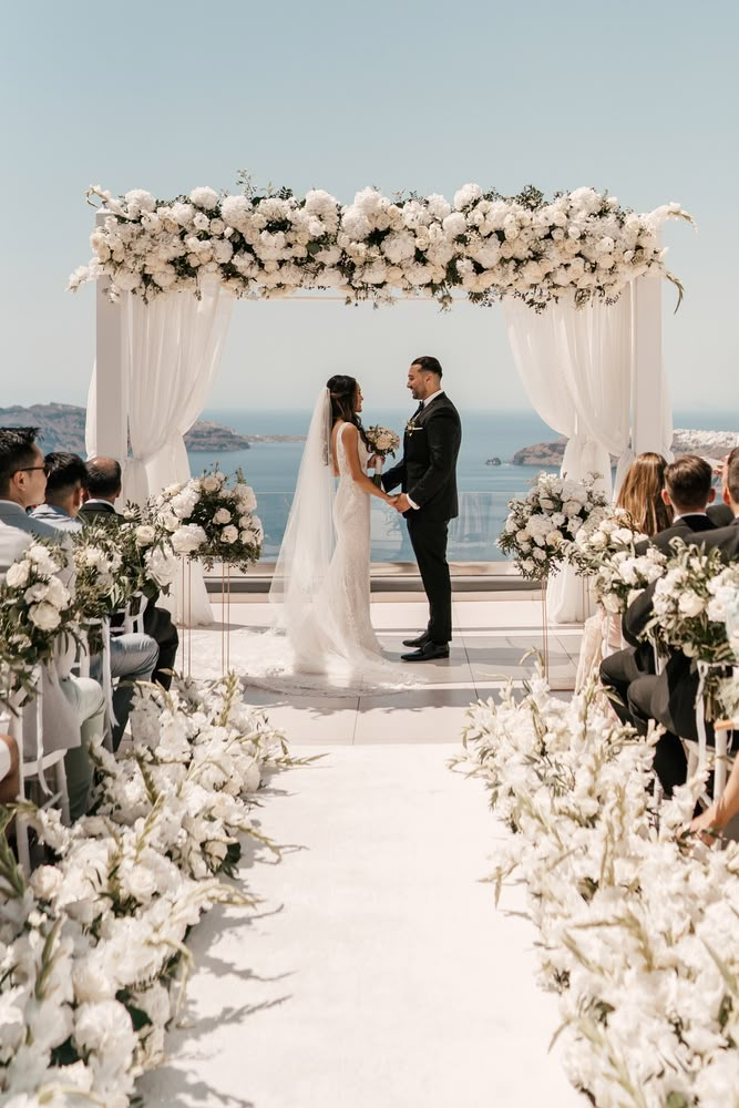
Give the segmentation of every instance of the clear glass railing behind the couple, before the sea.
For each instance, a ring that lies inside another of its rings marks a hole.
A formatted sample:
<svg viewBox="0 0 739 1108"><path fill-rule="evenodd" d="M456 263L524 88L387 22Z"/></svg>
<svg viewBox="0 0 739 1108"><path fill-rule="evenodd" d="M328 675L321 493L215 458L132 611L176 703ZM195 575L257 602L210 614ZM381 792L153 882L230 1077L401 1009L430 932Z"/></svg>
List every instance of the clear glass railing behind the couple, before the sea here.
<svg viewBox="0 0 739 1108"><path fill-rule="evenodd" d="M495 545L507 515L509 491L462 492L460 512L449 526L450 562L504 562ZM257 513L265 529L263 562L275 562L285 534L292 493L257 491ZM397 512L373 499L371 503L372 562L412 562L408 527Z"/></svg>

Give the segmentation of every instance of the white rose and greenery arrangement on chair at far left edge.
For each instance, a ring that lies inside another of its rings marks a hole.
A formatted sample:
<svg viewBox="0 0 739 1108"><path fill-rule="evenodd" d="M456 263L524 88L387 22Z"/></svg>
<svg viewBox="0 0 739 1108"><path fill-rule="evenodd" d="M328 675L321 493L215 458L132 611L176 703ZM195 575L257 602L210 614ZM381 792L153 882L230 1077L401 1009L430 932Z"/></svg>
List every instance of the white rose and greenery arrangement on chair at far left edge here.
<svg viewBox="0 0 739 1108"><path fill-rule="evenodd" d="M68 567L61 545L38 540L8 568L0 585L0 704L32 696L38 665L79 637L72 594L58 574Z"/></svg>

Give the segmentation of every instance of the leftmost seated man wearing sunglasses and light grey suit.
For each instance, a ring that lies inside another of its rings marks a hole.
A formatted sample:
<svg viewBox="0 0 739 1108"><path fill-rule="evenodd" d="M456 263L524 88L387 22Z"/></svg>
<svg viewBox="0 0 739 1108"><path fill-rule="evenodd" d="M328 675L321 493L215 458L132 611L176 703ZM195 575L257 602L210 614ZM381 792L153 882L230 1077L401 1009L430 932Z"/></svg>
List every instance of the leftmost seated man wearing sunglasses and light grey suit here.
<svg viewBox="0 0 739 1108"><path fill-rule="evenodd" d="M0 581L34 538L59 542L59 532L27 509L43 501L47 475L43 454L35 444L37 428L0 428ZM72 571L60 578L69 584ZM90 678L73 677L74 649L60 649L54 661L42 669L43 745L48 752L66 750L64 763L73 819L83 814L92 769L88 746L103 735L105 702L100 685ZM29 738L29 742L31 739ZM24 757L35 757L27 749Z"/></svg>

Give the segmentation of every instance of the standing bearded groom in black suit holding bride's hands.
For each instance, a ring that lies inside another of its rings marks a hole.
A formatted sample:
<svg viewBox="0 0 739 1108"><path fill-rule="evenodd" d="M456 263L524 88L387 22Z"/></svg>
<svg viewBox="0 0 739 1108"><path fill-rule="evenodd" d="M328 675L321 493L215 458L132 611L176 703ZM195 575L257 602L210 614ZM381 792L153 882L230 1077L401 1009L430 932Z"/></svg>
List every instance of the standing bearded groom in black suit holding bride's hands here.
<svg viewBox="0 0 739 1108"><path fill-rule="evenodd" d="M400 485L396 507L406 517L408 533L429 598L429 626L418 638L406 639L412 654L403 661L449 657L452 637L452 584L447 564L447 532L455 519L456 455L462 441L459 412L441 388L437 358L417 358L408 370L408 388L418 409L406 425L403 456L382 478L386 492Z"/></svg>

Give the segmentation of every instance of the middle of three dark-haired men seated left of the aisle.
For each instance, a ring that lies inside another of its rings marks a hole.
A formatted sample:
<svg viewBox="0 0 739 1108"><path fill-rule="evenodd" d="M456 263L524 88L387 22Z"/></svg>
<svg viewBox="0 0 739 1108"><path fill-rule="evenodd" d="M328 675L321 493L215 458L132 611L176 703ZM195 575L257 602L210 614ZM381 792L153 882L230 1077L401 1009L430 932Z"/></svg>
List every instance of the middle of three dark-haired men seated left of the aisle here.
<svg viewBox="0 0 739 1108"><path fill-rule="evenodd" d="M61 531L81 531L78 517L84 496L88 471L76 454L47 454L45 503L34 509L31 517L42 520ZM113 749L117 750L125 731L133 702L133 681L150 681L158 658L158 647L150 635L125 634L111 637L111 677L121 678L113 690ZM90 661L93 677L102 677L102 657Z"/></svg>

